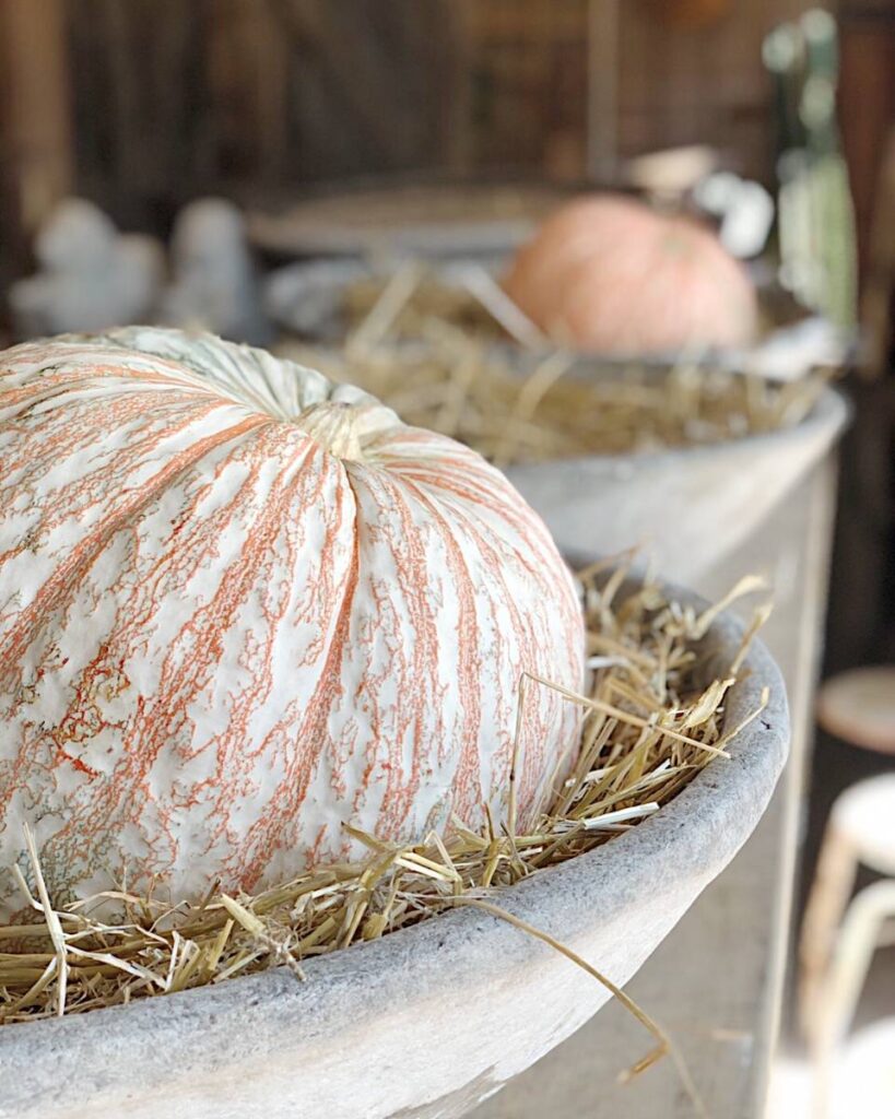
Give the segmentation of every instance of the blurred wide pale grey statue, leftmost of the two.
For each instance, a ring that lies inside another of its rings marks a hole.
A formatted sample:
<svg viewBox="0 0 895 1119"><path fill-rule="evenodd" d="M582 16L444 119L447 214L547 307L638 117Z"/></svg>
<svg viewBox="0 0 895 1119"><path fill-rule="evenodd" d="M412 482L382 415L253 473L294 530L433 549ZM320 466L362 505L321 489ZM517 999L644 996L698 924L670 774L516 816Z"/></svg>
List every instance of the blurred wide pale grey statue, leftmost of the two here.
<svg viewBox="0 0 895 1119"><path fill-rule="evenodd" d="M164 251L153 237L121 234L93 203L66 198L35 242L38 271L11 284L20 338L151 321L164 280Z"/></svg>

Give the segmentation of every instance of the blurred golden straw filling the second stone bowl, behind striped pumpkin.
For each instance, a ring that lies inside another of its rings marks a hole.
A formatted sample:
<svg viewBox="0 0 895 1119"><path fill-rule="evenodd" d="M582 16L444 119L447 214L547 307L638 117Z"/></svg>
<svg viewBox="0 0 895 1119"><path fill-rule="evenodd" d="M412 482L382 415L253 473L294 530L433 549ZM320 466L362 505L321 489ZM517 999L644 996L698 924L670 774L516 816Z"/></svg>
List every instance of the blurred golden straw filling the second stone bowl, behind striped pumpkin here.
<svg viewBox="0 0 895 1119"><path fill-rule="evenodd" d="M766 434L800 423L832 370L794 384L712 367L658 377L643 366L585 376L565 351L520 364L443 323L425 341L343 350L281 342L277 352L358 385L408 424L450 435L500 467L593 454L638 454Z"/></svg>

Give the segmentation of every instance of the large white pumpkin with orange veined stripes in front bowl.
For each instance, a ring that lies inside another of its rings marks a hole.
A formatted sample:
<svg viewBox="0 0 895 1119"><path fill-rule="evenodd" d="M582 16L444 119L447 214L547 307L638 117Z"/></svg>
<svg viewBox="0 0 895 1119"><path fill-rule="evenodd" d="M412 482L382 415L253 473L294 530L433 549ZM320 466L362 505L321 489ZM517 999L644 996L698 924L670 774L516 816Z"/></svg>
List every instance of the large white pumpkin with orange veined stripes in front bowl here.
<svg viewBox="0 0 895 1119"><path fill-rule="evenodd" d="M176 899L506 816L519 681L583 683L574 582L473 451L210 336L0 355L0 911ZM577 716L524 690L519 820ZM25 864L22 864L25 865Z"/></svg>

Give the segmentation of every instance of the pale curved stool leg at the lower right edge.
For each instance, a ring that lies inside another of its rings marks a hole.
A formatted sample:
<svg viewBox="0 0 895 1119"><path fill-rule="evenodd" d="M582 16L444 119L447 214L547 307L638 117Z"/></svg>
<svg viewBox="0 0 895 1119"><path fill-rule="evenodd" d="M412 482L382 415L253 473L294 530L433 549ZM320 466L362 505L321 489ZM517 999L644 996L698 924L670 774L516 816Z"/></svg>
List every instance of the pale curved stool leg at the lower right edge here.
<svg viewBox="0 0 895 1119"><path fill-rule="evenodd" d="M827 982L819 991L812 1029L814 1108L822 1119L829 1107L833 1060L855 1016L870 960L886 922L895 916L895 882L877 882L848 906Z"/></svg>

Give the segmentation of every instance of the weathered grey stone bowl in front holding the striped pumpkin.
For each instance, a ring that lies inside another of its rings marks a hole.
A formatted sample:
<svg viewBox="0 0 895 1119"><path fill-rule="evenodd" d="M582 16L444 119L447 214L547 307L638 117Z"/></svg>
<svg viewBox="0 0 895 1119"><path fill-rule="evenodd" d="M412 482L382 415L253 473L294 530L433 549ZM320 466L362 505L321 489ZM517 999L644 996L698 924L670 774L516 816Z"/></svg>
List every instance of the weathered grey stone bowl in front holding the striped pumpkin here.
<svg viewBox="0 0 895 1119"><path fill-rule="evenodd" d="M729 615L715 622L703 642L706 679L729 664L741 634ZM497 904L626 982L736 854L780 774L784 685L761 643L747 668L728 696L729 725L755 711L764 687L771 702L733 740L729 761L712 762L638 827L501 892ZM472 909L319 957L307 972L305 982L277 968L2 1026L0 1117L452 1119L609 998L541 941Z"/></svg>

